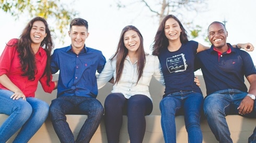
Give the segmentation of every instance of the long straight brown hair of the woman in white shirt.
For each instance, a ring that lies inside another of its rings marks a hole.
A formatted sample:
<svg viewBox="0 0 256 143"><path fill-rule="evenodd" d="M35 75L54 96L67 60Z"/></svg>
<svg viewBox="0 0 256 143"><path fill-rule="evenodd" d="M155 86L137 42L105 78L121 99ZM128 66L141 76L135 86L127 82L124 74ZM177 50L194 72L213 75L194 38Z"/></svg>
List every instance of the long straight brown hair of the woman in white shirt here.
<svg viewBox="0 0 256 143"><path fill-rule="evenodd" d="M138 83L139 79L141 79L141 76L143 74L143 69L144 69L145 61L146 61L146 56L145 56L145 51L144 51L144 46L143 46L143 37L142 37L141 32L139 32L139 30L136 27L134 27L133 25L127 25L126 27L123 28L123 30L121 32L117 51L115 51L114 56L111 58L111 60L112 60L114 57L117 57L117 66L116 66L117 76L116 76L116 80L114 81L114 84L117 84L119 82L119 80L121 79L122 73L123 73L124 60L128 54L128 49L124 46L124 34L125 34L125 32L127 32L129 30L133 30L133 31L137 32L137 34L139 36L139 40L141 41L141 44L139 45L139 47L137 49L137 67L138 67L137 68L137 74L138 74L137 83Z"/></svg>

